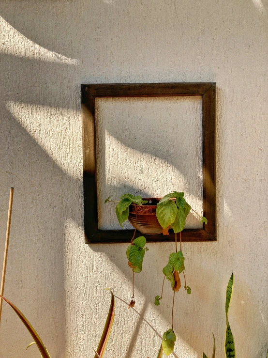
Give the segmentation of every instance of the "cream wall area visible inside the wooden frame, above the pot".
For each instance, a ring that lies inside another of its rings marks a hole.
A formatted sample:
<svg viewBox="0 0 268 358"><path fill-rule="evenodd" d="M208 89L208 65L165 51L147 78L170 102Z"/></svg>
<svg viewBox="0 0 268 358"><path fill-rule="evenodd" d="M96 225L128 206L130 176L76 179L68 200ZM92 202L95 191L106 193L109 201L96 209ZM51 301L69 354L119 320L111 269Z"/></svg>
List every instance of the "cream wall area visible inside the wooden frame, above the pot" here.
<svg viewBox="0 0 268 358"><path fill-rule="evenodd" d="M162 197L184 191L202 216L201 96L95 98L98 229L121 229L124 193ZM185 229L202 228L193 215ZM129 222L124 229L133 229Z"/></svg>

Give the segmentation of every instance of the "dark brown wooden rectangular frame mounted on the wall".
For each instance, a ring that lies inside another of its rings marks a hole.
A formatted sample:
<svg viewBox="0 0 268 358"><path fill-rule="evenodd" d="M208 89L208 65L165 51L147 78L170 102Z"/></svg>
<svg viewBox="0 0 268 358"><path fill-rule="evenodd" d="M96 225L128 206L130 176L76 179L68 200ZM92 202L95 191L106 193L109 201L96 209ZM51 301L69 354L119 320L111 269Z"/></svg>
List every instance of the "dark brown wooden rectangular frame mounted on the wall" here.
<svg viewBox="0 0 268 358"><path fill-rule="evenodd" d="M85 242L129 243L134 230L98 229L95 98L202 96L203 229L185 229L182 241L216 240L215 82L82 84ZM174 242L175 234L145 235L147 242Z"/></svg>

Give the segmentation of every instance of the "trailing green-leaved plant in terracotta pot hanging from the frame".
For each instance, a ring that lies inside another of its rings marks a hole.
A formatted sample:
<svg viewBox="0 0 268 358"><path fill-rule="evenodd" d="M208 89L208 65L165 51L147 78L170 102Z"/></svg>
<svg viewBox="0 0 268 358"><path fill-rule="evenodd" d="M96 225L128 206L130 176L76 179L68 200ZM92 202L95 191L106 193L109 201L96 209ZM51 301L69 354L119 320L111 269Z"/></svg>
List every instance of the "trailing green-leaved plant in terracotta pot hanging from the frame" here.
<svg viewBox="0 0 268 358"><path fill-rule="evenodd" d="M184 257L181 251L181 231L184 229L188 214L193 209L184 199L183 192L173 191L172 193L165 195L162 199L142 198L139 195L135 196L135 194L123 194L120 197L120 200L117 202L115 208L120 226L123 228L123 222L129 219L129 221L135 228L134 235L126 252L128 265L132 268L133 271L133 296L131 297L131 301L129 304L130 307L134 307L135 304L134 272L139 273L142 271L143 257L145 252L148 250L148 248L145 247L146 238L144 236L139 236L134 239L136 230L139 230L141 233L147 234L163 233L164 235L168 235L168 230L170 228L173 229L175 233L176 252L170 254L169 262L163 269L164 279L166 278L170 281L171 288L174 290L175 295L175 292L178 292L181 286L179 274L183 272L185 279L184 288L188 294L191 294L191 288L186 285L186 278L184 274ZM107 202L112 202L110 200L110 197L105 200L105 203ZM195 214L197 213L195 212ZM207 219L205 217L200 218L201 222L205 222L205 224L207 223ZM180 233L179 252L177 248L177 233ZM160 304L159 300L162 299L163 288L164 281L161 296L155 297L156 305ZM174 298L175 297L173 297L172 307L172 329L165 332L166 339L164 339L164 342L171 342L173 339L176 340L176 336L173 332ZM173 340L172 342L174 343L175 340ZM170 349L164 349L165 354L167 354ZM169 354L171 354L172 351Z"/></svg>

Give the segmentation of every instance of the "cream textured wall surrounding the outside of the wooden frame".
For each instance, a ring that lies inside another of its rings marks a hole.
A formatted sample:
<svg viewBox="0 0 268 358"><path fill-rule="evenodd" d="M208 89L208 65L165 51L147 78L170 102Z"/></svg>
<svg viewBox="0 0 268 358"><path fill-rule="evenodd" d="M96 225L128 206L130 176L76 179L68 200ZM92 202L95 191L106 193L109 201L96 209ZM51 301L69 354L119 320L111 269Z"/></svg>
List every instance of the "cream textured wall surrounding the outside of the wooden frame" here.
<svg viewBox="0 0 268 358"><path fill-rule="evenodd" d="M216 243L186 243L193 294L176 299L176 353L223 358L225 287L238 358L268 345L267 0L2 0L0 2L0 259L15 186L5 294L25 312L52 358L93 356L110 287L128 300L126 245L84 245L80 83L217 83ZM131 147L131 150L135 148ZM157 154L155 160L159 160ZM162 333L163 262L150 244L135 281L137 309ZM12 336L13 335L13 336ZM38 357L4 306L0 357ZM160 340L117 302L106 357L156 357Z"/></svg>

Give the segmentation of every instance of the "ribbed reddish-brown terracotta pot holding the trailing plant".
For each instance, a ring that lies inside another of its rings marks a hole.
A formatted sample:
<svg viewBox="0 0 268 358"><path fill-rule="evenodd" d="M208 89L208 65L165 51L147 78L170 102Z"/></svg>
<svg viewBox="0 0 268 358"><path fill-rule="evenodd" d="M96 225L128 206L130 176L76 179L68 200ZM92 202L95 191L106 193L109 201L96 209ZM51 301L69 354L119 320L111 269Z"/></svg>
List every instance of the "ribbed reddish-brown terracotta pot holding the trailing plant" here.
<svg viewBox="0 0 268 358"><path fill-rule="evenodd" d="M135 227L137 212L137 230L145 234L162 233L163 228L156 218L156 206L161 198L143 198L147 204L129 206L129 222ZM136 211L135 211L136 209Z"/></svg>

